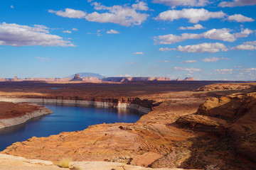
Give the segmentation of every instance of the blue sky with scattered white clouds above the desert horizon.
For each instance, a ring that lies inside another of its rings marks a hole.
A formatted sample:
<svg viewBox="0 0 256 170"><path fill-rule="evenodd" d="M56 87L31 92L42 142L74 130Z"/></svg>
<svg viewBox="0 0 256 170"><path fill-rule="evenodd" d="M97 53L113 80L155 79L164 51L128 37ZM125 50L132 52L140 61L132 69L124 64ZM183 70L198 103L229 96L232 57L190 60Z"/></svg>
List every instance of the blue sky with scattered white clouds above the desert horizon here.
<svg viewBox="0 0 256 170"><path fill-rule="evenodd" d="M255 0L0 2L0 78L256 80Z"/></svg>

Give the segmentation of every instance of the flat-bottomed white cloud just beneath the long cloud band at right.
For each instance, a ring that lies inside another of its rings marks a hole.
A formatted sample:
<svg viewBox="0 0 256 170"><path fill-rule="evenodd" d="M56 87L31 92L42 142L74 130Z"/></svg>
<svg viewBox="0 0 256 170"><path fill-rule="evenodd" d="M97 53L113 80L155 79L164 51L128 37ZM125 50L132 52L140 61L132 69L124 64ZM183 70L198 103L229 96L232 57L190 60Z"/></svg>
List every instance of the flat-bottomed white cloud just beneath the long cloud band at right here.
<svg viewBox="0 0 256 170"><path fill-rule="evenodd" d="M221 43L202 43L198 45L186 45L186 46L181 46L179 45L178 48L176 49L181 52L219 52L221 51L228 51L228 48L221 44Z"/></svg>

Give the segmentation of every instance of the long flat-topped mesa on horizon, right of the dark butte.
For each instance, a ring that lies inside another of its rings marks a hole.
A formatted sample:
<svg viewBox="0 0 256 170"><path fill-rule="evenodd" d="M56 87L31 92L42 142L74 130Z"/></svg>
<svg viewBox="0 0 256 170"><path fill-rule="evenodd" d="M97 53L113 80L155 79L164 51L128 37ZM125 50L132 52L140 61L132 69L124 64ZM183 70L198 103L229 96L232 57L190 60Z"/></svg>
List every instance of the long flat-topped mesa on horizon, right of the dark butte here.
<svg viewBox="0 0 256 170"><path fill-rule="evenodd" d="M102 81L127 82L127 81L170 81L167 77L107 77Z"/></svg>

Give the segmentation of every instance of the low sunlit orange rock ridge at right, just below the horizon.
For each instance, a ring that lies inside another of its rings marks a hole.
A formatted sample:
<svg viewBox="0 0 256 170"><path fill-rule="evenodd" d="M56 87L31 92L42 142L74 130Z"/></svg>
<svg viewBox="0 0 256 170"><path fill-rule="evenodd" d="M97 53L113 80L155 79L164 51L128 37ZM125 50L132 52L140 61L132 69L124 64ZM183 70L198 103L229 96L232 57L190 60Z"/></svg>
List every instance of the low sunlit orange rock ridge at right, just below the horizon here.
<svg viewBox="0 0 256 170"><path fill-rule="evenodd" d="M254 88L256 84L210 84L202 86L195 91L223 91L223 90L242 90Z"/></svg>

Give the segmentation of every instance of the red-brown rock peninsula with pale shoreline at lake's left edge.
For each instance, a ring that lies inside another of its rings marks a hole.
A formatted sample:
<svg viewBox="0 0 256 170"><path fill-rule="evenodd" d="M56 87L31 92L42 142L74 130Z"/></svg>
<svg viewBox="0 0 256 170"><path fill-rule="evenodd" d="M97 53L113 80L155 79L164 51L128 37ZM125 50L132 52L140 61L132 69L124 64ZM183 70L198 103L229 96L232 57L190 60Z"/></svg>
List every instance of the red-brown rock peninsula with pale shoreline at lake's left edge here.
<svg viewBox="0 0 256 170"><path fill-rule="evenodd" d="M3 103L3 102L0 102ZM20 111L14 110L14 108L9 108L8 112L1 112L1 117L0 117L0 129L1 128L6 128L14 125L19 125L21 123L26 123L31 118L36 118L41 115L47 115L50 113L53 113L53 111L50 111L50 109L39 106L35 103L25 103L26 105L32 106L29 108L31 111L26 111L25 113L21 113ZM6 102L4 104L1 104L1 107L4 107L6 105ZM23 103L20 104L14 104L13 105L23 105ZM19 107L18 107L19 108ZM1 108L2 110L2 108Z"/></svg>

